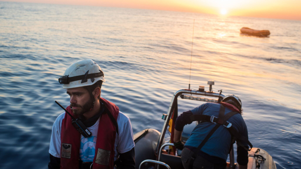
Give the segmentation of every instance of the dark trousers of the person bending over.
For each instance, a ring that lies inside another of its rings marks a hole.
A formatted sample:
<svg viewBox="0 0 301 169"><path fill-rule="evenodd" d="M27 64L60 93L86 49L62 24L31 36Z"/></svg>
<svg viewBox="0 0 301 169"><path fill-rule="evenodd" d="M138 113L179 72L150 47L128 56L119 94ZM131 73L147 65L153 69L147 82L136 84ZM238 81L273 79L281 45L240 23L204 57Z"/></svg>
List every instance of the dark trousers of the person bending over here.
<svg viewBox="0 0 301 169"><path fill-rule="evenodd" d="M183 167L185 169L189 169L189 163L191 160L191 157L193 155L193 151L184 148L182 153L181 153L181 160ZM217 166L214 165L213 163L207 161L201 156L197 156L193 162L193 168L192 169L225 169L226 166Z"/></svg>

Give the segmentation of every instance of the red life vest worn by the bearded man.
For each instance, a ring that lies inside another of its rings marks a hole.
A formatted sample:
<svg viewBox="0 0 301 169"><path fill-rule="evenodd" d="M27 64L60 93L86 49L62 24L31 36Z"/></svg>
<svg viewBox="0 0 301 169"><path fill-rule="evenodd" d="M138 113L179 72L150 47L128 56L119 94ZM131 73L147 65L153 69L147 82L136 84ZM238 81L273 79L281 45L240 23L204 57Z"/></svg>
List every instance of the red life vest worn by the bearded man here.
<svg viewBox="0 0 301 169"><path fill-rule="evenodd" d="M117 121L119 108L103 99L100 101L105 104L107 109L112 113ZM70 106L66 110L73 114ZM71 123L71 117L65 113L65 117L61 124L60 135L60 169L78 169L79 168L79 148L80 148L80 133ZM114 148L116 138L116 126L110 119L108 113L103 113L99 120L97 141L95 147L95 156L93 160L93 169L113 169L114 168Z"/></svg>

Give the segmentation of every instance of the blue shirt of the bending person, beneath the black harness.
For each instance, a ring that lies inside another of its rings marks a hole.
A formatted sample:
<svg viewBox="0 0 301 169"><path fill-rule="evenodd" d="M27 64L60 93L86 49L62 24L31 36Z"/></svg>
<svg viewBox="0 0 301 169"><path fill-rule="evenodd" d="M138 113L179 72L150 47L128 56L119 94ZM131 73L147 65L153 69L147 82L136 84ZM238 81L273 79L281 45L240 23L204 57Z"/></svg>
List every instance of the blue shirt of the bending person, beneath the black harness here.
<svg viewBox="0 0 301 169"><path fill-rule="evenodd" d="M209 116L219 116L220 104L206 103L193 110L192 114L203 114ZM225 109L225 114L233 112L231 109ZM228 119L232 126L243 136L247 138L247 128L240 113L237 113ZM185 146L198 147L199 144L208 135L211 129L216 124L211 122L203 122L195 126ZM247 144L246 144L247 146ZM224 126L220 126L213 135L209 138L201 151L214 157L219 157L227 160L229 150L231 148L231 135Z"/></svg>

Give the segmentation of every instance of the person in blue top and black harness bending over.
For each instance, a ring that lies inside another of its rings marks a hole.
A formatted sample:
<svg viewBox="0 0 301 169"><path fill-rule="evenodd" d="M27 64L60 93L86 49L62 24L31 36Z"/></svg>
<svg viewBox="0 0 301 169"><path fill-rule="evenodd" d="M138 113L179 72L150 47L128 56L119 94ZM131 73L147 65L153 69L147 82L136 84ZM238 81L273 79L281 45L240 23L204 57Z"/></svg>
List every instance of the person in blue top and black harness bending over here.
<svg viewBox="0 0 301 169"><path fill-rule="evenodd" d="M225 169L227 158L236 141L239 169L247 169L248 133L241 116L241 99L225 96L221 103L206 103L178 116L174 145L182 150L185 169ZM199 121L185 145L181 143L184 125Z"/></svg>

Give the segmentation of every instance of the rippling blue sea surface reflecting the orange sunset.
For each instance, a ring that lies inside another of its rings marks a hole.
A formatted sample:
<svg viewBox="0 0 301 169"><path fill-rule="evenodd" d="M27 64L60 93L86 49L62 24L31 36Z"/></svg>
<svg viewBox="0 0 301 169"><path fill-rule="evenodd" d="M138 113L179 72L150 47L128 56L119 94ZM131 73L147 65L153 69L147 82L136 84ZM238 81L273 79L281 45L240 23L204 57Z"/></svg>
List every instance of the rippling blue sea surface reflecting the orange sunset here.
<svg viewBox="0 0 301 169"><path fill-rule="evenodd" d="M14 2L0 2L0 169L47 168L54 101L69 104L58 78L80 59L101 66L102 97L134 133L161 131L174 92L188 88L193 19L191 88L215 80L215 92L238 95L254 147L277 169L300 169L301 21Z"/></svg>

